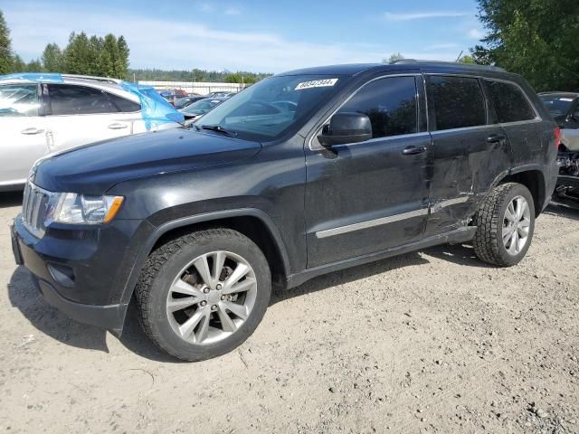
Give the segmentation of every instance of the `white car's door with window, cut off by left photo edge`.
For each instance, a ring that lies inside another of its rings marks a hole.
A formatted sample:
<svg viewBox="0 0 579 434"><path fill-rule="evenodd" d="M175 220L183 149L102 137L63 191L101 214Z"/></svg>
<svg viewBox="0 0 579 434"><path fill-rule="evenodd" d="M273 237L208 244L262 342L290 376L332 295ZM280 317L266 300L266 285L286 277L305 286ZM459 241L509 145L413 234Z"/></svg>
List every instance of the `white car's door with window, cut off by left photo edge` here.
<svg viewBox="0 0 579 434"><path fill-rule="evenodd" d="M0 85L0 185L24 183L33 163L49 152L38 89Z"/></svg>

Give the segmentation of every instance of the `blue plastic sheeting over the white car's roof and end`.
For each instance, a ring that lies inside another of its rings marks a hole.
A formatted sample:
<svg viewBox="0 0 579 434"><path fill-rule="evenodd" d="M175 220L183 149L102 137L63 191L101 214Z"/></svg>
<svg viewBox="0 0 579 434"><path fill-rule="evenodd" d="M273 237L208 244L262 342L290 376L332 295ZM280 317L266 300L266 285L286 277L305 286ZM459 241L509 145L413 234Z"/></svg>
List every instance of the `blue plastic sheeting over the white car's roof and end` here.
<svg viewBox="0 0 579 434"><path fill-rule="evenodd" d="M26 80L43 83L62 83L62 75L58 73L24 72L17 74L0 75L0 81ZM138 96L141 104L141 116L147 130L166 123L183 123L185 117L179 113L166 99L161 97L157 90L149 86L139 86L128 81L121 81L120 87Z"/></svg>

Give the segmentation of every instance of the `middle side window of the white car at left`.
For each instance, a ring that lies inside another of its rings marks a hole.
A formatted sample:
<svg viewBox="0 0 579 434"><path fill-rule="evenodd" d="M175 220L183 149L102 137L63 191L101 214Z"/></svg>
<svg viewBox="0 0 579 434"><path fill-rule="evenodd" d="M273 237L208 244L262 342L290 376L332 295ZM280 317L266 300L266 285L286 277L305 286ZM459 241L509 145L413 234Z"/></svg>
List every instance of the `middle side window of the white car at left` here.
<svg viewBox="0 0 579 434"><path fill-rule="evenodd" d="M91 115L118 113L110 99L101 91L71 84L48 84L52 115Z"/></svg>

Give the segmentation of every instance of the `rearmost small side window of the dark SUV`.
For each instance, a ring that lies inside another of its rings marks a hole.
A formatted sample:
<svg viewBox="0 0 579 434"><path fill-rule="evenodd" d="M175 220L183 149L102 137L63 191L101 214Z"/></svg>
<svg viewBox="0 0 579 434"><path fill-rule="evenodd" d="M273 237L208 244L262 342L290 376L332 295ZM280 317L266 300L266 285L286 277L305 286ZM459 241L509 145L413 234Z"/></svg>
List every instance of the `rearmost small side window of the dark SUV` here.
<svg viewBox="0 0 579 434"><path fill-rule="evenodd" d="M506 124L536 118L535 110L529 104L523 91L516 85L504 81L485 81L499 123Z"/></svg>

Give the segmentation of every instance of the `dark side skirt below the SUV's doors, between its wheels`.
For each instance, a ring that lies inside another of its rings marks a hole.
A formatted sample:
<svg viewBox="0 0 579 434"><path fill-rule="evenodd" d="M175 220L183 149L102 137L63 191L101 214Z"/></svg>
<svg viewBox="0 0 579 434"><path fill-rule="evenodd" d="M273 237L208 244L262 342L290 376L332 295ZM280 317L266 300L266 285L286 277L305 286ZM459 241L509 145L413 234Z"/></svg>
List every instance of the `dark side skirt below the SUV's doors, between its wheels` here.
<svg viewBox="0 0 579 434"><path fill-rule="evenodd" d="M474 238L474 234L476 231L477 231L476 226L464 226L454 231L442 233L440 235L435 235L421 241L416 241L410 244L404 244L403 246L394 247L392 249L381 250L364 256L358 256L356 258L339 260L337 262L320 265L312 269L305 269L303 271L300 271L299 273L288 276L285 287L286 288L299 287L299 285L308 281L310 278L316 278L318 276L331 273L339 269L349 269L350 267L356 267L358 265L366 264L368 262L374 262L380 259L391 258L393 256L402 255L404 253L408 253L414 250L422 250L440 244L458 244L460 242L467 242Z"/></svg>

